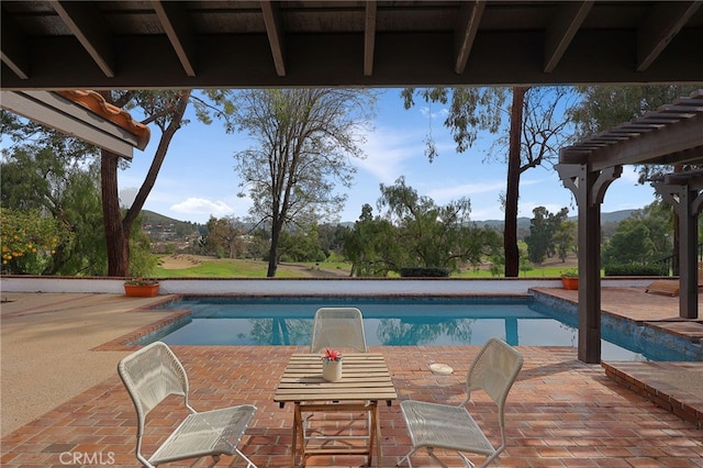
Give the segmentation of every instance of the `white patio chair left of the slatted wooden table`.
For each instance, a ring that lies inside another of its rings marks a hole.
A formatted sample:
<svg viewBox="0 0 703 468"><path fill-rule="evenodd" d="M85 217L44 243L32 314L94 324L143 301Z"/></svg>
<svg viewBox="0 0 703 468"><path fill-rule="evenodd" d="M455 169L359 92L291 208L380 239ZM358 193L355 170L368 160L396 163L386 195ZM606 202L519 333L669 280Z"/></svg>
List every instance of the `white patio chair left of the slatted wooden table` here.
<svg viewBox="0 0 703 468"><path fill-rule="evenodd" d="M221 455L238 455L247 468L256 465L237 445L247 428L256 406L242 404L205 412L197 412L188 402L188 376L171 349L161 342L126 356L118 365L137 414L136 458L147 467L168 461ZM142 439L148 413L168 395L183 397L183 412L188 415L168 438L146 458L142 454Z"/></svg>

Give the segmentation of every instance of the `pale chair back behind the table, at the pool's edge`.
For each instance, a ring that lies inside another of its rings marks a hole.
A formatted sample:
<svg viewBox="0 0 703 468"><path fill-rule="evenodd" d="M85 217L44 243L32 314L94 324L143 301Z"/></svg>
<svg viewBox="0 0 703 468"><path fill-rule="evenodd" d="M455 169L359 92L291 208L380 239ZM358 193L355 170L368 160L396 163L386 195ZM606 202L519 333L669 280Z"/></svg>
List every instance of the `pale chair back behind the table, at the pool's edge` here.
<svg viewBox="0 0 703 468"><path fill-rule="evenodd" d="M364 319L356 308L322 308L315 312L310 353L325 348L366 353Z"/></svg>

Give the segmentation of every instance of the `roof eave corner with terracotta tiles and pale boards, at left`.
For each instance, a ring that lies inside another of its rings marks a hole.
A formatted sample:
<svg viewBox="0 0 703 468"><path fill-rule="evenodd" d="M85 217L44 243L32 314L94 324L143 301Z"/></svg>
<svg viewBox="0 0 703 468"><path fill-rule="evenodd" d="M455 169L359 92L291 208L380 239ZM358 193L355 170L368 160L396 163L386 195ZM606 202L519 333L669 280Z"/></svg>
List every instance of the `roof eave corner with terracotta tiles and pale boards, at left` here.
<svg viewBox="0 0 703 468"><path fill-rule="evenodd" d="M90 91L62 96L51 91L0 91L0 107L63 133L83 140L127 159L133 149L144 149L148 127L134 122L127 112L112 109ZM88 104L92 104L92 109Z"/></svg>

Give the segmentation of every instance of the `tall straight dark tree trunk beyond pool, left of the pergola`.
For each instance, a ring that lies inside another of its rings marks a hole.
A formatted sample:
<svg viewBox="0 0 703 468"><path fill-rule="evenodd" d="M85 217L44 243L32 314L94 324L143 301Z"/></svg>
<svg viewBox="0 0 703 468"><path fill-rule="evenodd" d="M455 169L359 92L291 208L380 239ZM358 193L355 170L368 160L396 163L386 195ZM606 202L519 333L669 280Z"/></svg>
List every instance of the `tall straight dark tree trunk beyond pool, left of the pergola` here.
<svg viewBox="0 0 703 468"><path fill-rule="evenodd" d="M505 277L520 276L520 249L517 248L517 200L520 198L521 137L525 93L529 88L513 88L513 104L510 115L510 146L507 152L507 188L505 190Z"/></svg>

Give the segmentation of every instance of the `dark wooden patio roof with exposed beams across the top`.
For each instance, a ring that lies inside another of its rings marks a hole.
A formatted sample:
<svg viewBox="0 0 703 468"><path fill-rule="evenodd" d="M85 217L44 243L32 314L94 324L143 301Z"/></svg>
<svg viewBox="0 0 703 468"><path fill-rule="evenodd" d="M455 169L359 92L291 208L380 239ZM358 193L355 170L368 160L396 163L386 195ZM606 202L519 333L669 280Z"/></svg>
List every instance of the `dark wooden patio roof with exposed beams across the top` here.
<svg viewBox="0 0 703 468"><path fill-rule="evenodd" d="M0 2L3 89L695 82L703 1Z"/></svg>

